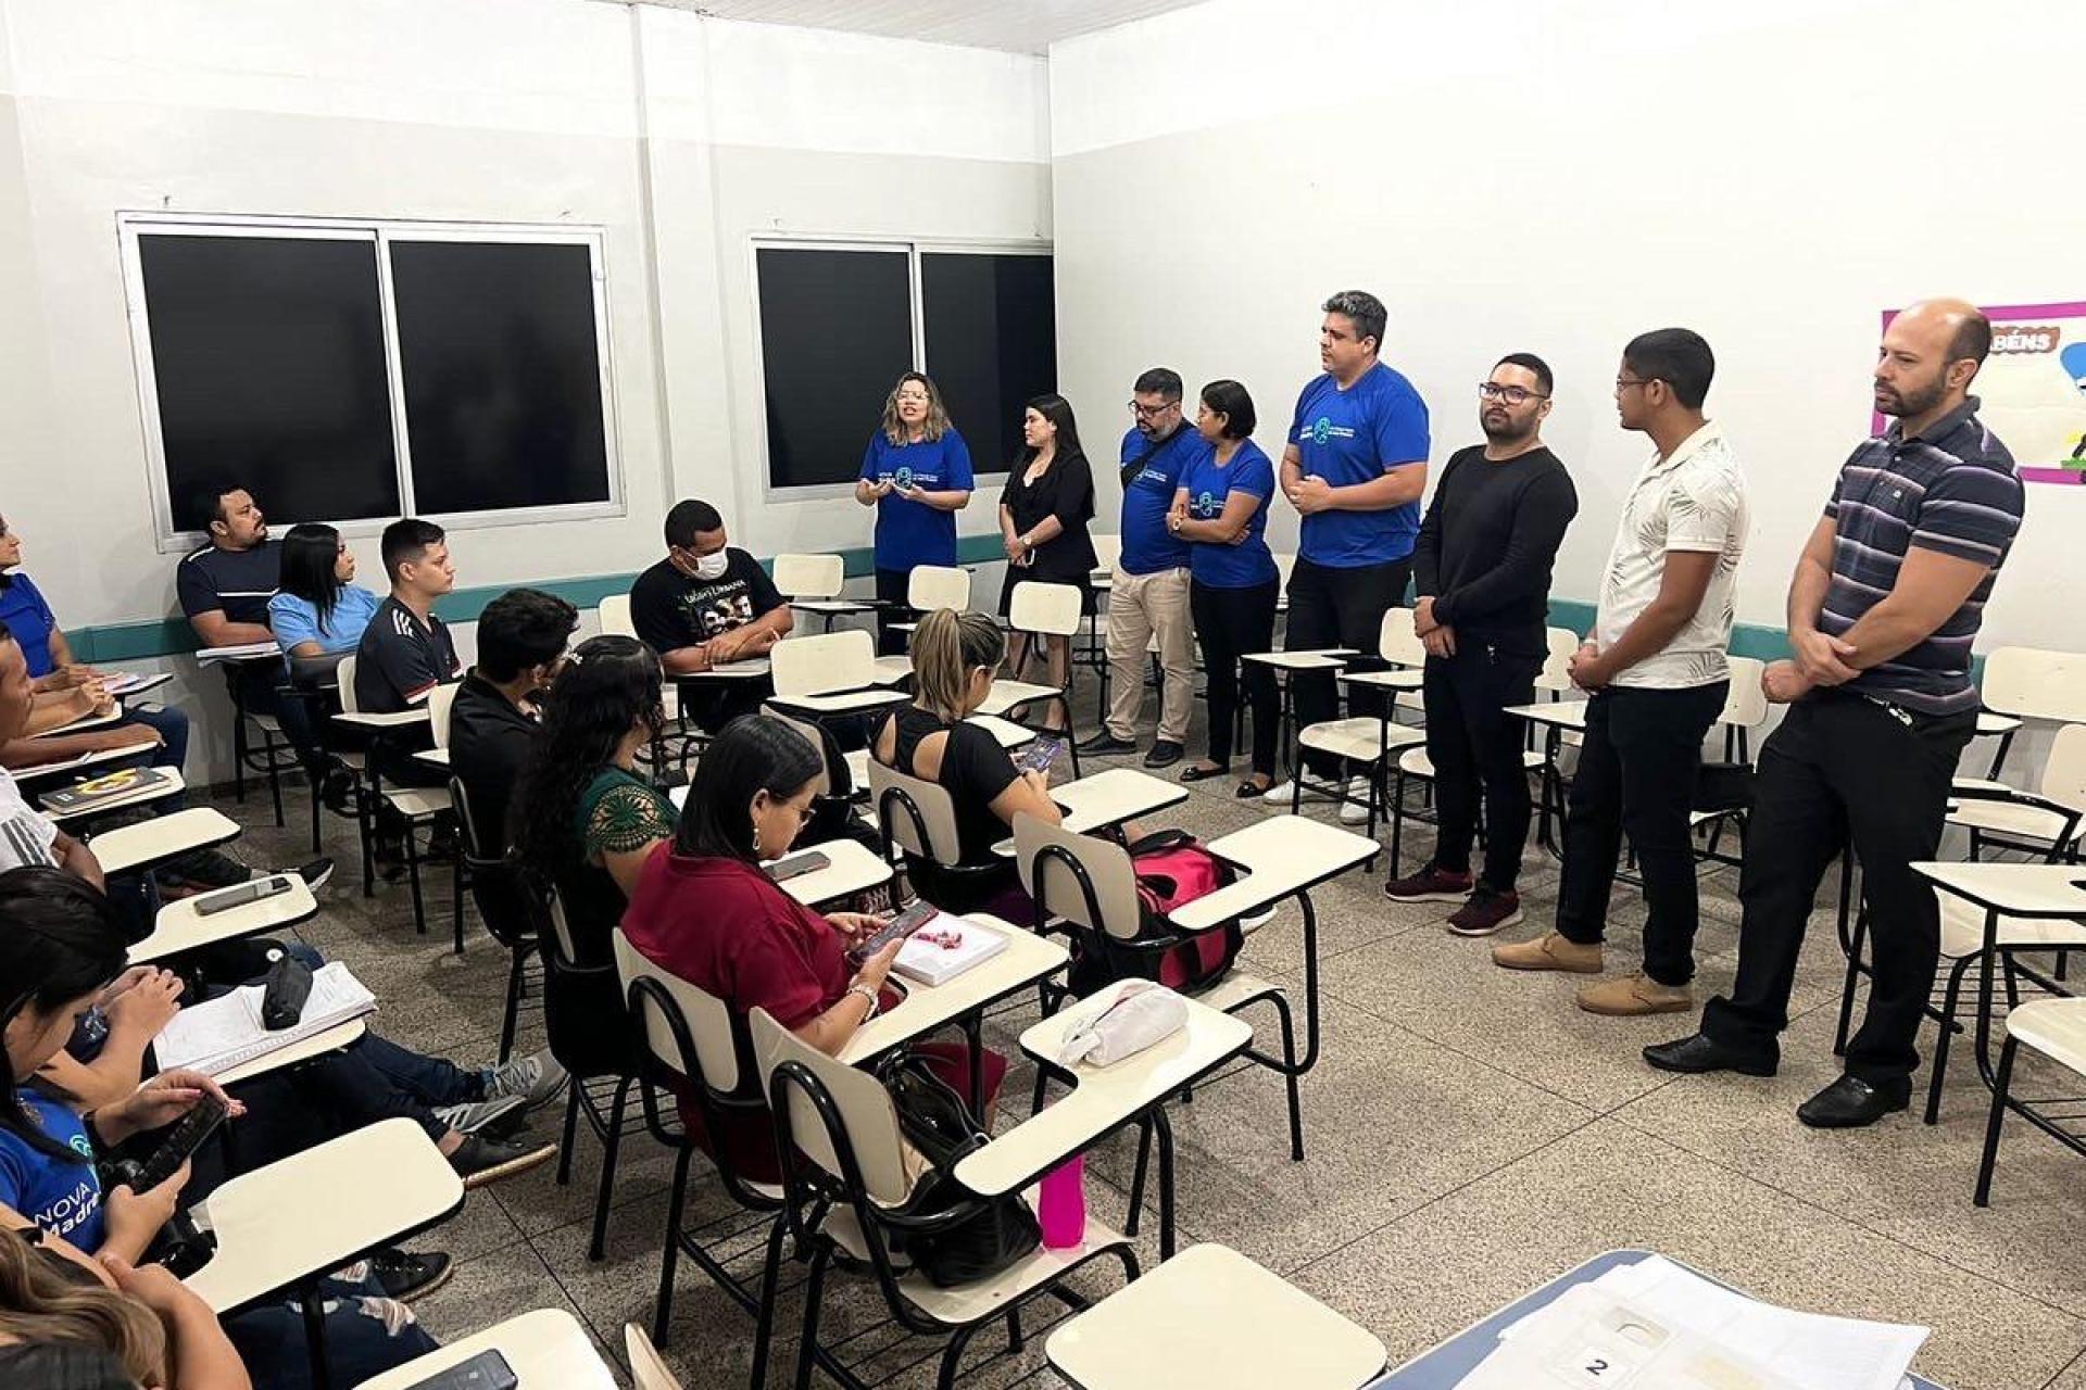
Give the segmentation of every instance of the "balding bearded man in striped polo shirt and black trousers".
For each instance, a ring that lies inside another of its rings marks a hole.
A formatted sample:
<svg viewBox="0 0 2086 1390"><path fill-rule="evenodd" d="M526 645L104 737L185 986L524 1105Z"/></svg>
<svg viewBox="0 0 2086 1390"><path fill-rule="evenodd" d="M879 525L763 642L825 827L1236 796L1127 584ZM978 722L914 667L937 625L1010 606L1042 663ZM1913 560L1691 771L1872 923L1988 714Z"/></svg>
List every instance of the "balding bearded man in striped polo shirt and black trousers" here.
<svg viewBox="0 0 2086 1390"><path fill-rule="evenodd" d="M1790 581L1796 659L1763 677L1790 713L1754 781L1738 982L1708 1002L1700 1034L1644 1048L1667 1071L1775 1073L1804 923L1852 838L1875 984L1846 1073L1796 1111L1821 1130L1902 1111L1919 1065L1940 911L1907 865L1940 846L1978 725L1971 640L2023 506L2013 454L1969 394L1990 346L1992 325L1963 300L1913 304L1884 329L1875 408L1896 423L1842 465Z"/></svg>

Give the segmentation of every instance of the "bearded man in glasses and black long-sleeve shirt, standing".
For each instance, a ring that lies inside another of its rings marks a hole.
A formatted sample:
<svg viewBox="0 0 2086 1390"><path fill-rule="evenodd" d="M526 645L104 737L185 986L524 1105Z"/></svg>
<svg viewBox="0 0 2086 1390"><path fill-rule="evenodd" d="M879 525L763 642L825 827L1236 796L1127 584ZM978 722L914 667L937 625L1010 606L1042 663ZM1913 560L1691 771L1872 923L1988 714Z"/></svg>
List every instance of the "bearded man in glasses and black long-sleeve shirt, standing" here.
<svg viewBox="0 0 2086 1390"><path fill-rule="evenodd" d="M1427 759L1439 836L1433 859L1391 879L1393 902L1458 902L1448 929L1489 936L1521 921L1529 838L1523 727L1508 704L1535 698L1548 654L1550 565L1579 511L1571 475L1544 446L1550 367L1512 352L1479 386L1485 444L1456 452L1421 523L1412 627L1427 644ZM1477 800L1485 798L1485 871L1471 879ZM1396 871L1396 865L1393 865Z"/></svg>

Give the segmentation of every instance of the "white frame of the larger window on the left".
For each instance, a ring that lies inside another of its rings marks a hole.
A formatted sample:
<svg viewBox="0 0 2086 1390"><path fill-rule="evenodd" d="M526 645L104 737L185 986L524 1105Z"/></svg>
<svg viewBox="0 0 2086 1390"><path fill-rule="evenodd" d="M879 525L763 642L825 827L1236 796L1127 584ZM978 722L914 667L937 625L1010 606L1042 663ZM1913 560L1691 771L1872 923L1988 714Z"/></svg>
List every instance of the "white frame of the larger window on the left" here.
<svg viewBox="0 0 2086 1390"><path fill-rule="evenodd" d="M607 465L609 496L601 502L563 502L555 506L515 506L505 511L430 513L444 529L471 531L503 525L538 525L544 521L586 521L626 515L622 438L615 400L615 363L609 329L607 229L599 225L538 223L469 223L409 221L396 217L265 217L229 213L117 213L117 238L123 258L123 308L129 319L131 361L138 377L138 415L144 429L146 496L152 504L152 540L161 554L177 554L207 542L202 531L184 531L173 521L173 496L167 486L167 442L159 417L159 371L152 363L152 323L144 292L144 263L138 252L142 235L209 235L209 238L271 238L317 242L367 242L378 267L378 315L384 331L384 386L390 398L392 469L398 483L403 517L413 511L413 440L407 429L405 373L398 356L398 308L392 288L392 242L461 242L461 244L534 244L584 246L595 292L595 363L601 373L601 444ZM265 502L265 498L263 498ZM390 519L298 517L325 521L348 538L373 538Z"/></svg>

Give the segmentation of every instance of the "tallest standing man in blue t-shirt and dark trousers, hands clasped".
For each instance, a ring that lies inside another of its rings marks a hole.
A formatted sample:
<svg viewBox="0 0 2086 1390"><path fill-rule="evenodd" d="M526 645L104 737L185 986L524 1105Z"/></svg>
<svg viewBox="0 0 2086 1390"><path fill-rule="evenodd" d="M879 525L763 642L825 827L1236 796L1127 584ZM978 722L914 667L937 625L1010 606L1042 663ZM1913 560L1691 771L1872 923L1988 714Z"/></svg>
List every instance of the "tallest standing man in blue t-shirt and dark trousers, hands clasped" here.
<svg viewBox="0 0 2086 1390"><path fill-rule="evenodd" d="M1325 302L1318 329L1325 373L1297 396L1281 467L1283 496L1304 519L1283 646L1300 652L1352 646L1362 652L1350 665L1354 671L1381 665L1383 613L1404 600L1412 579L1427 492L1427 402L1377 361L1387 321L1383 300L1364 290L1341 290ZM1293 690L1300 729L1337 717L1331 673L1300 671ZM1368 717L1383 702L1358 688L1350 706ZM1306 754L1304 765L1318 781L1339 775L1339 759L1327 754ZM1293 794L1283 781L1266 800L1289 802ZM1339 819L1366 821L1366 777L1356 777L1348 796Z"/></svg>

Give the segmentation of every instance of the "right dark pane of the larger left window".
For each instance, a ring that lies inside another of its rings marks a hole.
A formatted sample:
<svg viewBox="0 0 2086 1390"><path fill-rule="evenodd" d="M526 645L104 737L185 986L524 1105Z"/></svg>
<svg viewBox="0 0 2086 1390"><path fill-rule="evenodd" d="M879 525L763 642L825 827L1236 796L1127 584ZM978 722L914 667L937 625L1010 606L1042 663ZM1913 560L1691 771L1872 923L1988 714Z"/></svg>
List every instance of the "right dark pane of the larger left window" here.
<svg viewBox="0 0 2086 1390"><path fill-rule="evenodd" d="M609 498L586 246L392 242L413 506Z"/></svg>

